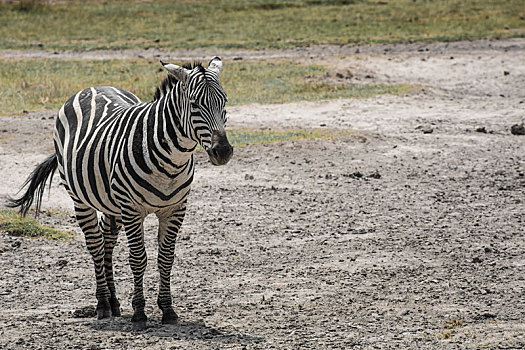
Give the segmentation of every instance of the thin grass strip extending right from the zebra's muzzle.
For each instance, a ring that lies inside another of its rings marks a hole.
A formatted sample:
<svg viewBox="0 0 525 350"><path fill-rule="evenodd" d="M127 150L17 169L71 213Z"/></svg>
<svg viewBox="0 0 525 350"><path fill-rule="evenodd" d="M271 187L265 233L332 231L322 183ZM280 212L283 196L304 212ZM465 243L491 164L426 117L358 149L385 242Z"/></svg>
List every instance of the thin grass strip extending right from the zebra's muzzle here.
<svg viewBox="0 0 525 350"><path fill-rule="evenodd" d="M284 142L305 139L327 139L337 135L349 134L346 130L293 129L293 130L228 130L228 140L234 147Z"/></svg>

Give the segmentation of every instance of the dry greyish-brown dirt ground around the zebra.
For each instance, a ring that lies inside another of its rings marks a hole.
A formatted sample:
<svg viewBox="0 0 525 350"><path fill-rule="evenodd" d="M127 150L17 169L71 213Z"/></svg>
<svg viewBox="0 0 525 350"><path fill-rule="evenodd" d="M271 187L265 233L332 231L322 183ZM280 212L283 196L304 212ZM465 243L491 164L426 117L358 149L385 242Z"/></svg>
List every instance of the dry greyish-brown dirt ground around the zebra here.
<svg viewBox="0 0 525 350"><path fill-rule="evenodd" d="M0 235L0 348L525 348L525 136L510 132L525 121L525 40L218 54L295 57L332 66L326 79L421 88L231 107L232 128L349 132L238 147L224 167L198 154L172 274L176 326L161 325L155 306L153 218L149 327L131 331L123 234L115 270L124 316L90 317L91 258L55 178L39 220L77 235ZM52 152L53 118L0 118L0 197Z"/></svg>

